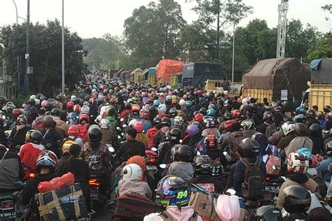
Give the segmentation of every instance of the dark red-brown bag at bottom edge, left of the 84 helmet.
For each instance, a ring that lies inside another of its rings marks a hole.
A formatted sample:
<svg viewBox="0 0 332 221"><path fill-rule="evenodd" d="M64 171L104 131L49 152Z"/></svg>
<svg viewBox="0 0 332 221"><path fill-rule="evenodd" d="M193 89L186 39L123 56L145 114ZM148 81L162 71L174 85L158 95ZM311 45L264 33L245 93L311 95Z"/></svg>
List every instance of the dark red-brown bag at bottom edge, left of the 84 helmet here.
<svg viewBox="0 0 332 221"><path fill-rule="evenodd" d="M123 220L143 220L144 216L158 212L151 199L137 192L130 192L116 199L113 215Z"/></svg>

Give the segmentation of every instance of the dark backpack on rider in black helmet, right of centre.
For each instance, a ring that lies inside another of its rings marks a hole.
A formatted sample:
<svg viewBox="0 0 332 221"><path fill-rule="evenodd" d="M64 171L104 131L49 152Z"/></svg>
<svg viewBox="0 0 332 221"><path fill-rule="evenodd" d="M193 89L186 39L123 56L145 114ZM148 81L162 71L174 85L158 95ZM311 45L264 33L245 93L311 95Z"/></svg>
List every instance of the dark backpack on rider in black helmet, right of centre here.
<svg viewBox="0 0 332 221"><path fill-rule="evenodd" d="M248 162L247 159L240 159L246 167L244 171L244 183L242 183L242 197L244 199L257 199L262 197L264 190L263 173L259 166L261 160L256 159L255 163Z"/></svg>

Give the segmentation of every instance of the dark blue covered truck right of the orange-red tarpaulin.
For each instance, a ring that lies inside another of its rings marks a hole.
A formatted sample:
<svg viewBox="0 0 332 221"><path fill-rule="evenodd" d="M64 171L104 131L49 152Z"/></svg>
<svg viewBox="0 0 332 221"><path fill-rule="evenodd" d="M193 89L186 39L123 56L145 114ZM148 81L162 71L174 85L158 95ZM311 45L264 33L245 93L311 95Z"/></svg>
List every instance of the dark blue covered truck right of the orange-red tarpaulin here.
<svg viewBox="0 0 332 221"><path fill-rule="evenodd" d="M182 85L203 87L206 80L221 80L221 64L188 63L184 64Z"/></svg>

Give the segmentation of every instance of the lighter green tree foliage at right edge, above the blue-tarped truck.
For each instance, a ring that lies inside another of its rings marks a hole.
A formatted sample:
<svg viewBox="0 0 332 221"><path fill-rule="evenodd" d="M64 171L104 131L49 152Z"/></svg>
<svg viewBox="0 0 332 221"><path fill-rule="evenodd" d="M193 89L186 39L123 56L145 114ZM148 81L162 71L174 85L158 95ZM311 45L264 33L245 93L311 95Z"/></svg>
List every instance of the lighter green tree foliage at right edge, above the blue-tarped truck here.
<svg viewBox="0 0 332 221"><path fill-rule="evenodd" d="M317 45L314 48L307 50L307 59L312 61L319 58L332 57L332 32L328 32L318 39Z"/></svg>

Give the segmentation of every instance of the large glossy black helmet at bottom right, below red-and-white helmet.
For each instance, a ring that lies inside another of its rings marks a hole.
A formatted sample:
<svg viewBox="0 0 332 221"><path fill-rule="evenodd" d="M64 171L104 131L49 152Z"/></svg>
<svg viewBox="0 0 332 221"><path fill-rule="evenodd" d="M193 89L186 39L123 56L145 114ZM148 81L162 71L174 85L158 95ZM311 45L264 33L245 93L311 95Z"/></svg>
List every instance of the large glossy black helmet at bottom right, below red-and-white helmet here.
<svg viewBox="0 0 332 221"><path fill-rule="evenodd" d="M310 192L305 187L292 185L284 188L284 209L288 213L305 213L311 204Z"/></svg>

